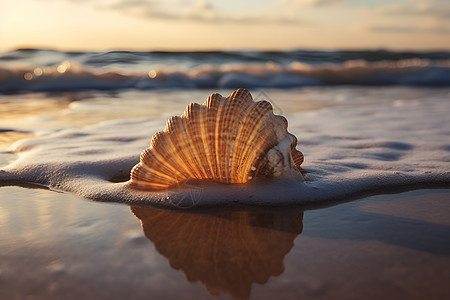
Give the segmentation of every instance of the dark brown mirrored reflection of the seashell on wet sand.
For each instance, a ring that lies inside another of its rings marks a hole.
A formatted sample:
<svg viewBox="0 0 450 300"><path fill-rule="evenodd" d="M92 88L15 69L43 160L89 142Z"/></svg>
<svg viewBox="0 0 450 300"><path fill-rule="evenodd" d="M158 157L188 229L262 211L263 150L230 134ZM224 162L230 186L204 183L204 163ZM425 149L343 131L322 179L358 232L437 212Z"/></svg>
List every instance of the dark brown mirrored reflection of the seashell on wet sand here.
<svg viewBox="0 0 450 300"><path fill-rule="evenodd" d="M303 211L226 212L215 215L132 207L146 237L212 295L248 299L253 283L284 271L283 259L303 229Z"/></svg>

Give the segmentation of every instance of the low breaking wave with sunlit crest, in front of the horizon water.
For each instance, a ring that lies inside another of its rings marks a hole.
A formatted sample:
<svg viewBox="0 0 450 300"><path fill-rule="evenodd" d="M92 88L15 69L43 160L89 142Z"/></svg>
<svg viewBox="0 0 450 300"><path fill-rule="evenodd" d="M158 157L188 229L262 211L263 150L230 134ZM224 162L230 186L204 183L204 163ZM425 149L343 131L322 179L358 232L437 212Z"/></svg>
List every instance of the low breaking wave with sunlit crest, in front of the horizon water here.
<svg viewBox="0 0 450 300"><path fill-rule="evenodd" d="M349 60L308 64L274 62L206 64L187 70L163 67L148 73L101 71L75 61L14 68L0 67L0 92L164 88L290 88L311 85L449 86L450 60Z"/></svg>

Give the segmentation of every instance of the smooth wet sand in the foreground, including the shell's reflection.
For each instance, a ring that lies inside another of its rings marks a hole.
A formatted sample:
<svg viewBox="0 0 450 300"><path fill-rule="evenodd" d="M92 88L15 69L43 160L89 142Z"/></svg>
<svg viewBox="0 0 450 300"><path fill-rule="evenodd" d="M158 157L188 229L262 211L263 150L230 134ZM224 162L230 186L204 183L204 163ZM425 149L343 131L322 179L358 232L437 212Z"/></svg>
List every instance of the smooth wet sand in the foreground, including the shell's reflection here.
<svg viewBox="0 0 450 300"><path fill-rule="evenodd" d="M194 213L1 187L0 299L448 299L449 199Z"/></svg>

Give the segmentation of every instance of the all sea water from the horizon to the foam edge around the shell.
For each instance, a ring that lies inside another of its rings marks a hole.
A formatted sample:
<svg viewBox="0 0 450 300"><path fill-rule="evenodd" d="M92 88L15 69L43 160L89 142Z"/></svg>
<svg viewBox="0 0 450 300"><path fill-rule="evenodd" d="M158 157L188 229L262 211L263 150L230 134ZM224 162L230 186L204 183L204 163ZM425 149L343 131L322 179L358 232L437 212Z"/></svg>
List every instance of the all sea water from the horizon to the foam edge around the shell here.
<svg viewBox="0 0 450 300"><path fill-rule="evenodd" d="M163 207L322 203L450 183L450 54L2 53L2 184ZM168 117L213 92L272 103L305 154L305 181L137 192L131 168ZM9 134L13 138L7 138ZM33 138L22 139L26 135ZM8 143L5 143L8 144Z"/></svg>

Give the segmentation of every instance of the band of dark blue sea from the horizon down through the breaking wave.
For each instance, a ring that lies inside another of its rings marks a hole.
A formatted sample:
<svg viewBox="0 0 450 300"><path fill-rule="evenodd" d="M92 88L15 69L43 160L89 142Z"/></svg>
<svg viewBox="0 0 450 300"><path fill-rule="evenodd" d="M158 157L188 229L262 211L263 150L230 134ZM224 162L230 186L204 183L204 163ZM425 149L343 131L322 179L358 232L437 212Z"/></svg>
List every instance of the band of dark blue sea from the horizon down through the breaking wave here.
<svg viewBox="0 0 450 300"><path fill-rule="evenodd" d="M448 52L209 51L0 53L0 92L450 84Z"/></svg>

